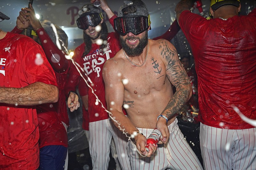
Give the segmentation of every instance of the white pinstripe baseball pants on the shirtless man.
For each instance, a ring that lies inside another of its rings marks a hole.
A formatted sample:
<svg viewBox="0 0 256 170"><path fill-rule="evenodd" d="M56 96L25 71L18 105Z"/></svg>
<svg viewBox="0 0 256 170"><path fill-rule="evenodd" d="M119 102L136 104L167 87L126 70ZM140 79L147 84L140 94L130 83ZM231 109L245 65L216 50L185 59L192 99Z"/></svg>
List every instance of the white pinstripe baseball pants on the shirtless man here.
<svg viewBox="0 0 256 170"><path fill-rule="evenodd" d="M179 170L203 170L203 167L196 157L196 154L190 148L188 142L184 139L175 119L168 129L170 137L168 143L158 144L154 156L147 158L141 157L136 150L135 144L128 142L130 159L133 170L160 170L160 169L179 169ZM146 137L150 135L153 129L138 128Z"/></svg>

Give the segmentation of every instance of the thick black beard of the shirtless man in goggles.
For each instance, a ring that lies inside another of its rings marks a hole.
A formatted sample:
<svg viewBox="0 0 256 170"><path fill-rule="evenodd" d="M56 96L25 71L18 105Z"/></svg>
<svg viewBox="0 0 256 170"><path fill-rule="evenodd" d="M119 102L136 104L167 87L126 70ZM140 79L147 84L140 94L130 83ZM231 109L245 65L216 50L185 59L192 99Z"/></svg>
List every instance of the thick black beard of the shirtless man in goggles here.
<svg viewBox="0 0 256 170"><path fill-rule="evenodd" d="M127 38L123 38L122 35L120 35L120 43L121 46L123 47L125 53L129 56L129 57L134 57L134 56L138 56L143 52L143 49L146 47L146 45L148 44L148 31L145 31L145 34L142 38L138 38L139 39L139 44L134 47L129 47L126 44L126 40L129 39L134 39L133 37L127 37Z"/></svg>

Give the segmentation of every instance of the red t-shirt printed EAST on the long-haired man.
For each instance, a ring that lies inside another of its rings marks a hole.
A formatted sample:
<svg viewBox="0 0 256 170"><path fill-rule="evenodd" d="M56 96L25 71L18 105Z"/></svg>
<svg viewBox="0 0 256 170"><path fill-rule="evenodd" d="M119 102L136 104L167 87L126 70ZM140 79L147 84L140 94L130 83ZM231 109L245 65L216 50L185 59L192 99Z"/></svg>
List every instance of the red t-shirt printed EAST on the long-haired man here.
<svg viewBox="0 0 256 170"><path fill-rule="evenodd" d="M92 89L88 88L89 122L108 119L108 113L105 111L100 103L97 104L96 97L92 93L92 91L96 94L96 96L98 96L103 106L107 109L107 104L105 100L105 84L102 78L102 68L104 63L109 58L114 57L116 53L121 49L119 34L115 32L108 33L108 50L105 51L105 53L100 52L99 45L92 44L91 51L86 56L82 57L84 53L84 47L85 43L82 43L80 46L78 46L74 51L73 58L75 58L76 62L85 70L85 73L92 81L92 84L89 83ZM74 66L71 66L69 74L75 74L77 76L80 76L79 72ZM68 85L70 84L68 83ZM79 88L83 87L79 86Z"/></svg>

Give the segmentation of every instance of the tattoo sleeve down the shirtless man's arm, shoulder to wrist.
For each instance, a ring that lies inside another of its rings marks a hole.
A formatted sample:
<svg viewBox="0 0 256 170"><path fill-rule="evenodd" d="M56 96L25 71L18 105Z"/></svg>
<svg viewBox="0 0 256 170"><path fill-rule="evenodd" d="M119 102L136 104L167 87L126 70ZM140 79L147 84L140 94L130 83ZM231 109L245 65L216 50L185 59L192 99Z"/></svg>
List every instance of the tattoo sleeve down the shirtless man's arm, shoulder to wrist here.
<svg viewBox="0 0 256 170"><path fill-rule="evenodd" d="M173 85L176 87L176 92L162 112L170 118L188 101L190 97L190 82L186 70L182 65L177 64L180 62L177 57L177 50L169 47L167 41L161 41L159 48L161 49L163 60L167 62L166 76L169 80L172 80Z"/></svg>

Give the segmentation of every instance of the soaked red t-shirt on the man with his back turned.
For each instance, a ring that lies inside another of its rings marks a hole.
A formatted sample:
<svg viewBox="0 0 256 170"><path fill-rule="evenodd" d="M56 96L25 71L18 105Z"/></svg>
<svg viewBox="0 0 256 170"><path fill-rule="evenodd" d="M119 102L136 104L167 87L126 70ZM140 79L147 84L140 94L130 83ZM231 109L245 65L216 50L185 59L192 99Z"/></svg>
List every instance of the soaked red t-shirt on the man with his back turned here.
<svg viewBox="0 0 256 170"><path fill-rule="evenodd" d="M247 129L233 109L256 119L256 9L247 16L207 20L183 11L198 77L199 120L223 129Z"/></svg>

